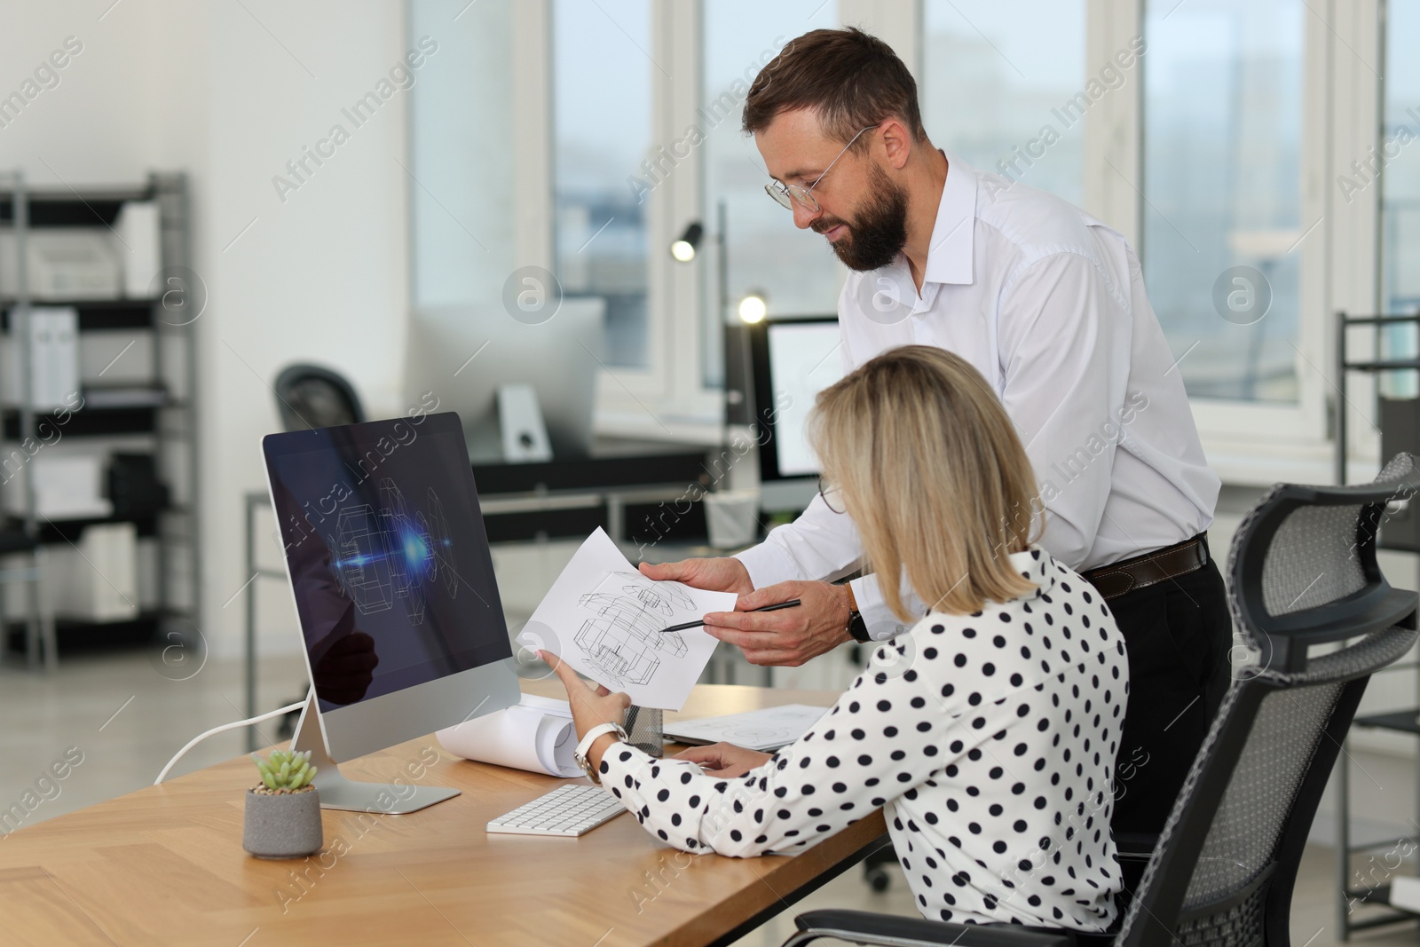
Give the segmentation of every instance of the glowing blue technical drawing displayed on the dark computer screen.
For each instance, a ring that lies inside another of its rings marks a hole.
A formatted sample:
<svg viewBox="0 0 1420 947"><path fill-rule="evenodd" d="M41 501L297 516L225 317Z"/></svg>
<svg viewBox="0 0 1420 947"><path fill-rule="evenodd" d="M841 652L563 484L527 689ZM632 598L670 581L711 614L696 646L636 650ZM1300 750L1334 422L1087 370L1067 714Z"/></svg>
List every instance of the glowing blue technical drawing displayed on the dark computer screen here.
<svg viewBox="0 0 1420 947"><path fill-rule="evenodd" d="M379 510L371 504L344 507L335 522L331 571L361 615L385 612L403 599L409 619L425 620L427 582L443 582L449 598L459 589L454 548L443 503L429 490L427 515L413 515L395 481L379 481Z"/></svg>

